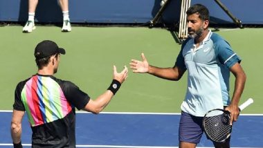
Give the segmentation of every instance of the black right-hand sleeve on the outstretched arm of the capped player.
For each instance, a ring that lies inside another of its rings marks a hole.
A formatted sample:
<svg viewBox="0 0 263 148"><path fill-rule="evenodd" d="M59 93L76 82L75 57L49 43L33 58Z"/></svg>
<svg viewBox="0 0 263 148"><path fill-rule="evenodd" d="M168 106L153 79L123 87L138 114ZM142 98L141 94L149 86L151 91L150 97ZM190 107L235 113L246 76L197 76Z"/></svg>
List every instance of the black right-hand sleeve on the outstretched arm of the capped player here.
<svg viewBox="0 0 263 148"><path fill-rule="evenodd" d="M87 93L81 91L78 86L69 81L64 81L62 84L62 91L71 104L78 110L84 109L90 98Z"/></svg>

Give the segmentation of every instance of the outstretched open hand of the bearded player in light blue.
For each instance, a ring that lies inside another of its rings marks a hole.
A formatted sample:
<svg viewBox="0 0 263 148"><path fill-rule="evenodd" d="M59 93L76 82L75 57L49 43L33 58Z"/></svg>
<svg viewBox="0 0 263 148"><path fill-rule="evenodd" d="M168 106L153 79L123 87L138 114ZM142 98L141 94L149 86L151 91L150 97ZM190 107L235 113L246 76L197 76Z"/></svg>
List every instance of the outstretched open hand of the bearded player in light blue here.
<svg viewBox="0 0 263 148"><path fill-rule="evenodd" d="M141 53L142 61L138 61L136 59L131 59L131 63L129 63L130 68L133 69L134 73L147 73L149 72L149 63L145 58L144 54Z"/></svg>

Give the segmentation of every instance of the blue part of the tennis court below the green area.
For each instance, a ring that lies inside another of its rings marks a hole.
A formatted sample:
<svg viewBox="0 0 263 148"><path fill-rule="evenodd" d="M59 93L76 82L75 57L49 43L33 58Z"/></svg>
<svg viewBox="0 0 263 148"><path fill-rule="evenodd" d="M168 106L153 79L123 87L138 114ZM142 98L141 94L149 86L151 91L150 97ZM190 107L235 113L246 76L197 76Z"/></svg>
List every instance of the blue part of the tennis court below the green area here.
<svg viewBox="0 0 263 148"><path fill-rule="evenodd" d="M12 147L11 111L0 117L0 147ZM26 117L26 115L25 115ZM77 113L77 147L178 147L178 113ZM263 115L244 114L234 123L231 147L263 147ZM23 121L22 143L30 147L31 129ZM203 136L198 147L212 147Z"/></svg>

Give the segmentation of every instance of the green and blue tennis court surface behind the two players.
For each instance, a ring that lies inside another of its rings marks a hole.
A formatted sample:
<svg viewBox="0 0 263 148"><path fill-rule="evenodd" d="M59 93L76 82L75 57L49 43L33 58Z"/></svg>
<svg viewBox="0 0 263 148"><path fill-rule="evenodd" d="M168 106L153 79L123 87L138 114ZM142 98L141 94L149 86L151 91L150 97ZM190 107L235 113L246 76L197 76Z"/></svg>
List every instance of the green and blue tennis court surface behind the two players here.
<svg viewBox="0 0 263 148"><path fill-rule="evenodd" d="M131 59L145 53L149 64L174 66L181 45L174 35L162 28L81 27L61 33L58 26L37 26L33 33L21 33L23 26L0 27L0 147L12 147L10 119L15 86L35 74L33 50L39 41L51 39L66 49L55 77L70 80L95 99L105 92L115 64L120 71ZM213 28L211 28L213 30ZM262 28L223 29L224 37L242 58L247 75L241 104L247 98L254 103L242 111L233 127L231 147L263 147L263 65ZM234 79L230 78L230 94ZM129 76L111 100L105 113L77 113L78 147L178 147L181 102L187 73L179 82L161 80L147 74ZM30 147L30 127L24 118L22 142ZM198 147L212 147L203 136Z"/></svg>

